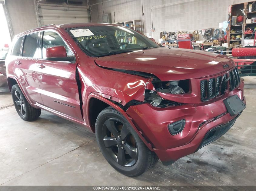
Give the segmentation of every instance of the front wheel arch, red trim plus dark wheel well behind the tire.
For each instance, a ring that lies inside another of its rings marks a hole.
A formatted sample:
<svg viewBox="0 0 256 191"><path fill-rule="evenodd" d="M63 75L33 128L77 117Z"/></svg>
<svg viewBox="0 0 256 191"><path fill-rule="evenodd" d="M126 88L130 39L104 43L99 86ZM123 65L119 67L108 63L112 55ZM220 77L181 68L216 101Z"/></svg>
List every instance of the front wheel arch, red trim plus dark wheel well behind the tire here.
<svg viewBox="0 0 256 191"><path fill-rule="evenodd" d="M153 151L153 148L152 148L152 145L145 139L145 137L143 137L140 133L140 131L138 131L138 129L136 128L136 126L134 125L134 123L132 122L132 118L128 116L127 113L125 113L124 110L122 110L120 107L118 107L117 105L115 105L115 103L111 102L110 100L104 98L104 97L101 97L100 95L96 94L96 93L91 93L89 96L88 96L88 99L87 99L87 107L86 107L86 117L87 117L87 121L88 121L88 124L91 128L91 130L93 132L95 132L95 122L96 122L96 118L98 116L98 114L103 110L100 110L98 112L98 106L95 107L95 104L99 103L99 108L103 108L105 109L106 107L113 107L115 108L116 110L118 110L124 117L125 119L128 121L128 123L130 123L130 125L132 126L132 128L135 130L135 132L138 134L138 136L141 138L141 140L145 143L145 145L147 145L147 147ZM93 113L93 115L91 115L91 111L92 111L92 108L97 108L96 112ZM97 114L98 113L98 114ZM97 116L96 116L97 114ZM95 118L96 117L96 118ZM95 121L94 121L95 119Z"/></svg>

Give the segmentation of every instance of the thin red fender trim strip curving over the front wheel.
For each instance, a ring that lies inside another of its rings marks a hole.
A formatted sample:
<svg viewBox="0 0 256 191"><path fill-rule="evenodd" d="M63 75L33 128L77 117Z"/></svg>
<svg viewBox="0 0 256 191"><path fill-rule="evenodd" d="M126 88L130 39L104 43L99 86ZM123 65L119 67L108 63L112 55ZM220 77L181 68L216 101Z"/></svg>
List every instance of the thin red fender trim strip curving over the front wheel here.
<svg viewBox="0 0 256 191"><path fill-rule="evenodd" d="M118 110L124 117L125 119L128 121L128 123L130 123L130 125L132 126L132 128L135 130L135 132L138 134L138 136L141 138L141 140L145 143L145 145L147 145L147 147L153 151L153 148L152 148L152 145L141 135L141 133L138 131L138 129L135 127L135 125L132 123L132 118L128 116L127 113L125 113L124 110L122 110L120 107L118 107L117 105L115 105L114 103L112 103L111 101L109 101L108 99L104 98L104 97L101 97L99 96L98 94L96 93L91 93L89 96L88 96L88 99L87 99L87 105L86 105L86 118L87 118L87 121L88 121L88 124L90 126L90 128L92 129L91 127L91 124L90 124L90 120L89 120L89 103L90 103L90 99L91 98L96 98L98 100L101 100L105 103L107 103L109 106L115 108L116 110Z"/></svg>

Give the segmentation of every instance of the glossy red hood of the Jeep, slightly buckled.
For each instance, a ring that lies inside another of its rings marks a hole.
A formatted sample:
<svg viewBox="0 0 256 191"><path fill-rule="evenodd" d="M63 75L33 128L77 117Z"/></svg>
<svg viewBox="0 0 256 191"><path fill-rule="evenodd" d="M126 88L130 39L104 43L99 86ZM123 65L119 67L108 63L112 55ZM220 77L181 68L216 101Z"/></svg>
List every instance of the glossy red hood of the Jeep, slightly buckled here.
<svg viewBox="0 0 256 191"><path fill-rule="evenodd" d="M234 66L231 59L220 54L167 48L99 57L95 62L106 68L154 74L161 81L202 78L222 73ZM226 64L228 68L224 68Z"/></svg>

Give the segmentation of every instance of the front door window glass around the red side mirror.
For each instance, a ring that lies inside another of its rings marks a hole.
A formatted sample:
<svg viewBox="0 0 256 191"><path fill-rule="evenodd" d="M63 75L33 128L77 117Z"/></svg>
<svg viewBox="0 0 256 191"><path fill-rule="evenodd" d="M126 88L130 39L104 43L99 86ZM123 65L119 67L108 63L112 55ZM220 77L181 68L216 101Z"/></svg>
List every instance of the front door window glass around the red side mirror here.
<svg viewBox="0 0 256 191"><path fill-rule="evenodd" d="M46 49L54 46L64 46L67 52L67 56L73 56L71 50L68 48L64 40L53 31L45 31L43 34L43 43L42 43L42 58L46 59Z"/></svg>

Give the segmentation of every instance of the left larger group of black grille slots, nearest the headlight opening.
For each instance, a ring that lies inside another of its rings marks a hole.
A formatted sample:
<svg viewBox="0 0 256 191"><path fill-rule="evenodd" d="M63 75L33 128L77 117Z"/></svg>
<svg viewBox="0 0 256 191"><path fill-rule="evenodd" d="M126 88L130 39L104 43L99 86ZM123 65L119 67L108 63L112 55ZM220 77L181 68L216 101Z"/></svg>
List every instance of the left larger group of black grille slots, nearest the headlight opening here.
<svg viewBox="0 0 256 191"><path fill-rule="evenodd" d="M227 90L227 75L210 78L209 80L201 80L200 89L202 101L208 101L224 94Z"/></svg>

